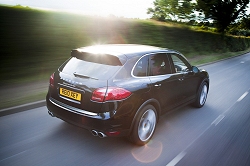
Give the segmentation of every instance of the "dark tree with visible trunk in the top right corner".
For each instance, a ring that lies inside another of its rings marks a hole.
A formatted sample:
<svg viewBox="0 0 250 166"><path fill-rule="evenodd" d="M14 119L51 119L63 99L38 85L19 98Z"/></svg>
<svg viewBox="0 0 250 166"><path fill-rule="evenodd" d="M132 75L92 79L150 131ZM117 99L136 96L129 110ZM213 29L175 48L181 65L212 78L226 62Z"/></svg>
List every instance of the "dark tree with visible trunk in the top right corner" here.
<svg viewBox="0 0 250 166"><path fill-rule="evenodd" d="M249 0L197 0L196 9L203 12L205 19L212 19L219 32L246 13Z"/></svg>

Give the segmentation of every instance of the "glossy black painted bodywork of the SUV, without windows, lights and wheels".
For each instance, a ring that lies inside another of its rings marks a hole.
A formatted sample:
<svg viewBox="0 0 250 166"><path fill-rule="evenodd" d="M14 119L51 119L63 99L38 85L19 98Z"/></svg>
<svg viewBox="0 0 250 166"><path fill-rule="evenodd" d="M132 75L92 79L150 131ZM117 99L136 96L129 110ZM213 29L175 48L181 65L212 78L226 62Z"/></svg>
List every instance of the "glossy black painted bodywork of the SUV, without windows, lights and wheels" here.
<svg viewBox="0 0 250 166"><path fill-rule="evenodd" d="M120 131L119 136L129 135L135 115L143 106L153 105L157 109L159 117L169 110L194 102L200 84L203 81L209 84L209 76L205 70L194 70L183 55L173 50L143 45L102 45L76 50L78 54L81 52L96 54L98 52L98 54L112 55L112 58L117 57L121 61L121 66L117 66L116 71L108 75L106 79L103 77L100 79L77 77L73 72L64 72L62 68L68 61L54 73L54 87L49 87L46 97L49 111L62 120L88 130L94 129L104 133ZM170 59L170 74L149 76L148 67L148 76L133 75L134 66L140 58L157 53L166 54ZM174 72L175 67L169 56L172 53L178 55L185 62L187 70ZM93 56L95 56L94 54ZM75 57L74 53L72 58ZM60 96L60 87L81 93L82 100L77 102ZM103 87L122 87L132 92L132 95L121 101L103 103L92 101L92 92ZM77 110L88 111L93 115Z"/></svg>

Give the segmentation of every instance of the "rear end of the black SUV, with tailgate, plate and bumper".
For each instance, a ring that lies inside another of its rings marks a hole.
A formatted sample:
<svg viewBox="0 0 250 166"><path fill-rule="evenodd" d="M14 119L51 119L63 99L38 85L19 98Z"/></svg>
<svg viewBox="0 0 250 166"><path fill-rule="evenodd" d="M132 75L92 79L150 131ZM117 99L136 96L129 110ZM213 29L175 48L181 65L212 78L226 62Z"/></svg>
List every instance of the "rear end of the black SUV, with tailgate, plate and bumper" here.
<svg viewBox="0 0 250 166"><path fill-rule="evenodd" d="M88 49L72 50L71 56L50 77L46 97L50 115L100 137L120 135L114 131L113 117L132 92L114 84L113 77L124 70L126 56Z"/></svg>

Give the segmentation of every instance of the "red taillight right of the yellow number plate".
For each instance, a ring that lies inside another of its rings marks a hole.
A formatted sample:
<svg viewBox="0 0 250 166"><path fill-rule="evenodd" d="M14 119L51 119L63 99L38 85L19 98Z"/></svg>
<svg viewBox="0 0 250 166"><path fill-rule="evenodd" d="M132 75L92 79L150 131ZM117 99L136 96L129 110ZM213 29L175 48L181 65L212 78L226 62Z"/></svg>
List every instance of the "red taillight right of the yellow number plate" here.
<svg viewBox="0 0 250 166"><path fill-rule="evenodd" d="M99 88L96 89L91 99L93 101L104 102L104 101L111 101L111 100L122 100L131 95L131 92L118 87L109 87L107 88Z"/></svg>

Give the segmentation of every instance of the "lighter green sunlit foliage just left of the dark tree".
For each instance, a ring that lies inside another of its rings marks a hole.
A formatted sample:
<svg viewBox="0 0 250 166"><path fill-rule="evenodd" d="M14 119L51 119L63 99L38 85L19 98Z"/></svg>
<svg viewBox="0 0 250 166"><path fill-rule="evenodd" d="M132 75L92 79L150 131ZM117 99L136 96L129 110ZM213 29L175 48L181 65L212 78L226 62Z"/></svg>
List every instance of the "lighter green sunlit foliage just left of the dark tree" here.
<svg viewBox="0 0 250 166"><path fill-rule="evenodd" d="M159 21L185 20L194 17L195 3L192 0L155 0L153 8L148 8L147 14Z"/></svg>

